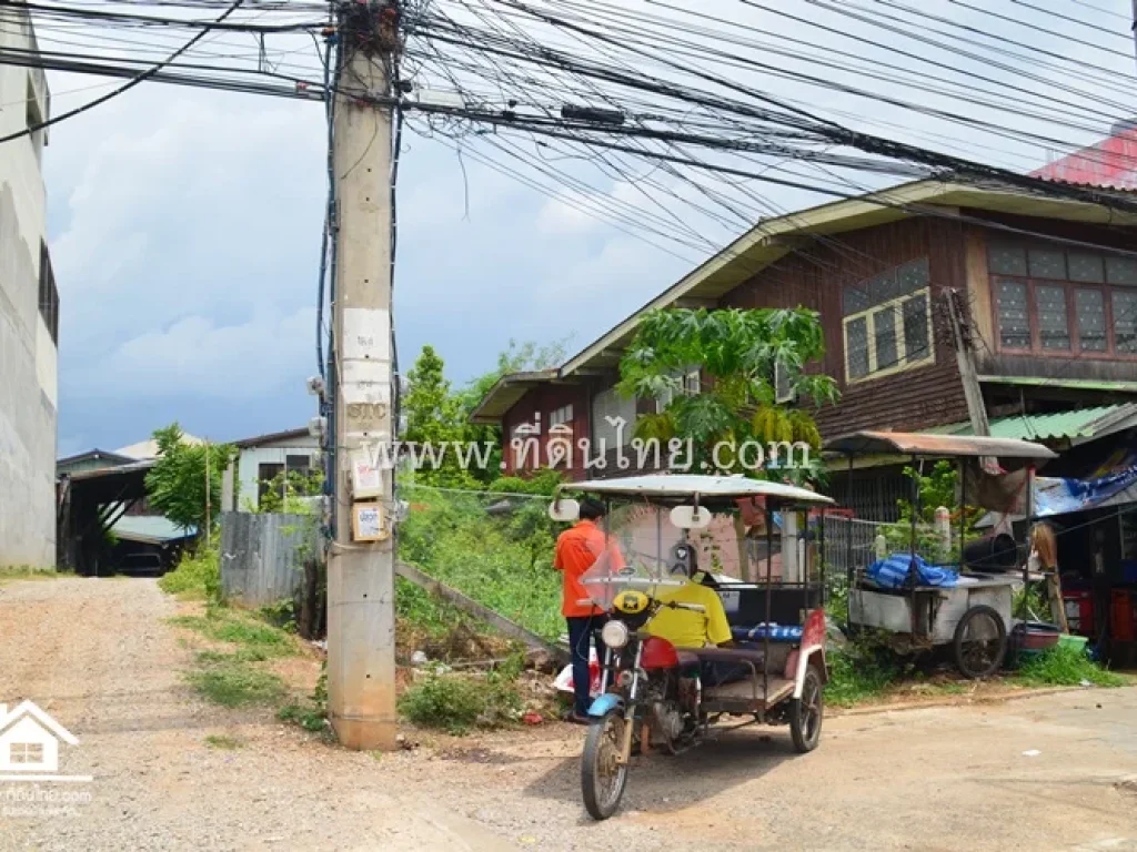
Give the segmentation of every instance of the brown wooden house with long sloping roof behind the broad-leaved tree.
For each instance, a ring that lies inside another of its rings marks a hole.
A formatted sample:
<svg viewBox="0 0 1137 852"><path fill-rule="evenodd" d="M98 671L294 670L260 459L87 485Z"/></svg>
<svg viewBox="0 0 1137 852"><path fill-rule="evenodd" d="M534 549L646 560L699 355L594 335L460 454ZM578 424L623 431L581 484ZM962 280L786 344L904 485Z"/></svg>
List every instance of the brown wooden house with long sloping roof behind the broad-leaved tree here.
<svg viewBox="0 0 1137 852"><path fill-rule="evenodd" d="M516 473L533 460L511 443L534 425L546 442L568 426L574 438L626 443L630 428L617 435L609 418L655 406L613 387L644 311L797 306L820 312L827 351L811 369L841 392L815 412L825 437L966 429L980 415L1024 431L1057 411L1105 417L1137 401L1137 256L1111 249L1137 251L1137 216L1002 185L920 181L767 219L559 368L501 378L474 418L501 425ZM698 382L697 368L684 377ZM604 475L580 453L563 467ZM904 494L898 470L868 487L865 507Z"/></svg>

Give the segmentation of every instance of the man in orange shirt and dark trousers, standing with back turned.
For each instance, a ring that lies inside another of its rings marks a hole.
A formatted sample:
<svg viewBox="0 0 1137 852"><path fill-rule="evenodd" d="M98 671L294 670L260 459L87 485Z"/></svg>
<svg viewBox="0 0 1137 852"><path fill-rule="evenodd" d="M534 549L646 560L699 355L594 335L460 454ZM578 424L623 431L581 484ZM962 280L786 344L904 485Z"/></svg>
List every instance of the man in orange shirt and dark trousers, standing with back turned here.
<svg viewBox="0 0 1137 852"><path fill-rule="evenodd" d="M590 701L589 652L594 637L604 626L606 616L600 607L587 602L588 599L599 598L600 593L596 590L590 591L580 578L605 550L608 551L613 570L624 567L615 543L609 542L604 531L597 526L597 521L604 515L604 503L599 500L594 498L581 500L580 520L557 537L557 549L553 557L553 567L564 575L561 612L568 623L568 646L572 649L572 685L575 701L568 721L582 725L588 724ZM599 648L600 643L597 640L597 651Z"/></svg>

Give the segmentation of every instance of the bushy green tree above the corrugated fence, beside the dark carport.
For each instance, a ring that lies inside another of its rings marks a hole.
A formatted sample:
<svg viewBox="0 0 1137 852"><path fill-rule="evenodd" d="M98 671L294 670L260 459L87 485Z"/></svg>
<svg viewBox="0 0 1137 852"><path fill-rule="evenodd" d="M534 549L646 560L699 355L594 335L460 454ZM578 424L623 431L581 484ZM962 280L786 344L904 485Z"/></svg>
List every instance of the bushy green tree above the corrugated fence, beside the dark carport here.
<svg viewBox="0 0 1137 852"><path fill-rule="evenodd" d="M231 444L190 444L174 423L156 429L158 458L146 476L150 504L182 529L206 528L206 469L208 458L210 521L221 509L221 481L225 468L236 458Z"/></svg>

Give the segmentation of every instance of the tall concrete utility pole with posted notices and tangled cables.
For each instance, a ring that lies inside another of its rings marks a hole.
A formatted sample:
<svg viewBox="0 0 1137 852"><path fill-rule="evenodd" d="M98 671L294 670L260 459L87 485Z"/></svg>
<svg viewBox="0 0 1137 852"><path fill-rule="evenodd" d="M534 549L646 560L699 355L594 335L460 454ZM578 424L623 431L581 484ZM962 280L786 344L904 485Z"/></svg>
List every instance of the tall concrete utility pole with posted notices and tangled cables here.
<svg viewBox="0 0 1137 852"><path fill-rule="evenodd" d="M393 749L393 470L367 493L352 470L393 440L391 411L390 69L398 3L339 3L335 95L338 269L333 314L335 540L327 560L327 693L332 728L349 749Z"/></svg>

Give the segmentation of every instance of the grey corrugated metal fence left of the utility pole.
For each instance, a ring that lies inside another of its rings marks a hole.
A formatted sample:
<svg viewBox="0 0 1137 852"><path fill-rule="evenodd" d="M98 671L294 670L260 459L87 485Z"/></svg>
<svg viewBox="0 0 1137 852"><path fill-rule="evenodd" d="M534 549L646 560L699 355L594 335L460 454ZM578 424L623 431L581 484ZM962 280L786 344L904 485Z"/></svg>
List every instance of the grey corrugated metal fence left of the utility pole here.
<svg viewBox="0 0 1137 852"><path fill-rule="evenodd" d="M225 600L266 607L291 599L304 580L304 560L317 553L310 515L221 516L221 586Z"/></svg>

